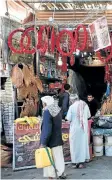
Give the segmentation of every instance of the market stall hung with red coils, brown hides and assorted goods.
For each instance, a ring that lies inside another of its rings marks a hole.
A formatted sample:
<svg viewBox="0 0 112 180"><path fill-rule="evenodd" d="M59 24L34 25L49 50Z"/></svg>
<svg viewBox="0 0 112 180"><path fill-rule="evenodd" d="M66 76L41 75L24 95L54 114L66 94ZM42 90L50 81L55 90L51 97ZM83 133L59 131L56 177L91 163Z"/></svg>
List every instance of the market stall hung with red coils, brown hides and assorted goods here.
<svg viewBox="0 0 112 180"><path fill-rule="evenodd" d="M38 3L21 1L22 11L26 7L33 9L22 24L2 18L2 32L7 26L8 30L0 41L0 73L6 76L2 84L1 127L6 143L13 143L13 169L35 167L34 151L39 147L42 121L41 97L57 98L67 81L82 100L93 90L101 105L94 118L91 157L93 145L96 156L104 154L102 135L106 136L105 155L112 156L112 91L101 101L108 84L112 88L112 12L107 3L97 4L98 7L91 3L86 7L83 2L55 2L55 6L52 2ZM14 6L8 4L13 9L18 2ZM66 163L70 162L68 134L69 123L63 122ZM97 142L99 136L101 141Z"/></svg>

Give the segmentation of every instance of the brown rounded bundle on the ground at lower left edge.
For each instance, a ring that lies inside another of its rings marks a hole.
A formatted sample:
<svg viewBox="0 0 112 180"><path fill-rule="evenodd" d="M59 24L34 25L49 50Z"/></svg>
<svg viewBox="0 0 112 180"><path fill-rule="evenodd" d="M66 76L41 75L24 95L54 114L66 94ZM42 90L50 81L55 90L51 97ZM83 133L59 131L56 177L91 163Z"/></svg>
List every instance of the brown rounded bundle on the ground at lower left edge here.
<svg viewBox="0 0 112 180"><path fill-rule="evenodd" d="M11 163L11 157L12 157L12 150L8 148L7 146L0 145L1 151L0 151L0 167L8 167L8 164Z"/></svg>

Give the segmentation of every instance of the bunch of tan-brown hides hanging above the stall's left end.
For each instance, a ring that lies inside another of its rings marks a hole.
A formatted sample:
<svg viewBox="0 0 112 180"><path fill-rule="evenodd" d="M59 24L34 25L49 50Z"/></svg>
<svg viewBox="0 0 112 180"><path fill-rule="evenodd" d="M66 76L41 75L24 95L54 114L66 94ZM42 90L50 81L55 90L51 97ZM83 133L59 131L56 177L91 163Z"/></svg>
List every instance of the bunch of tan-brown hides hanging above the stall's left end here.
<svg viewBox="0 0 112 180"><path fill-rule="evenodd" d="M17 88L17 101L23 100L20 117L35 116L38 106L38 91L43 92L43 85L38 76L34 76L33 67L24 63L12 69L12 82Z"/></svg>

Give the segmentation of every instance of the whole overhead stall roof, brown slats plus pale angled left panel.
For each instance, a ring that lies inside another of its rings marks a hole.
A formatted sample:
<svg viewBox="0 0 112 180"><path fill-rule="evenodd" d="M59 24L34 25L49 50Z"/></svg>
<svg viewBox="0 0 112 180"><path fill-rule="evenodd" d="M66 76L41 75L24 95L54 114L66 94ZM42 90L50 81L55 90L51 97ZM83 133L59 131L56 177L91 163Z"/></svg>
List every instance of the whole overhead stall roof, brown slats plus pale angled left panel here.
<svg viewBox="0 0 112 180"><path fill-rule="evenodd" d="M1 0L1 3L5 8L4 14L8 11L11 18L23 24L33 21L33 15L36 14L40 24L49 23L53 19L57 25L74 27L80 23L88 25L98 17L106 16L108 25L112 25L111 0Z"/></svg>

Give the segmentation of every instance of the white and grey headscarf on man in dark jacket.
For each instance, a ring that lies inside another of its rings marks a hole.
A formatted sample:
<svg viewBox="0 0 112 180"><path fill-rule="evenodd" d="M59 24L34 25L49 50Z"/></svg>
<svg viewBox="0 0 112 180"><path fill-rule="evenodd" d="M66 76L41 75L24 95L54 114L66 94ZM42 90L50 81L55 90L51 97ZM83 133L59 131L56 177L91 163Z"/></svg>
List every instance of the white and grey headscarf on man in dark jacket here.
<svg viewBox="0 0 112 180"><path fill-rule="evenodd" d="M58 106L58 102L54 100L51 96L44 96L41 98L43 103L46 103L46 109L49 110L51 116L55 117L61 111L60 107Z"/></svg>

